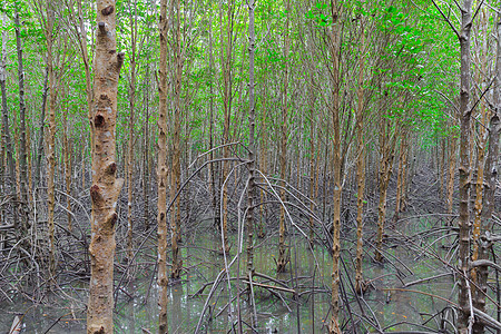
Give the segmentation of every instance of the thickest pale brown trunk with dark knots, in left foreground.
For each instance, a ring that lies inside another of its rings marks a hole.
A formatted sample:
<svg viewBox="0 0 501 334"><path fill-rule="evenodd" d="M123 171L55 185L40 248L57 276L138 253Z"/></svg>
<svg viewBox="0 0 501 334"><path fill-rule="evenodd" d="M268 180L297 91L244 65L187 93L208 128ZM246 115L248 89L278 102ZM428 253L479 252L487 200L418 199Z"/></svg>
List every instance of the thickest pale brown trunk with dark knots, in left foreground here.
<svg viewBox="0 0 501 334"><path fill-rule="evenodd" d="M92 106L92 202L90 238L90 293L87 333L114 332L114 257L117 200L124 179L116 177L117 92L124 53L116 50L114 0L97 1L96 56Z"/></svg>

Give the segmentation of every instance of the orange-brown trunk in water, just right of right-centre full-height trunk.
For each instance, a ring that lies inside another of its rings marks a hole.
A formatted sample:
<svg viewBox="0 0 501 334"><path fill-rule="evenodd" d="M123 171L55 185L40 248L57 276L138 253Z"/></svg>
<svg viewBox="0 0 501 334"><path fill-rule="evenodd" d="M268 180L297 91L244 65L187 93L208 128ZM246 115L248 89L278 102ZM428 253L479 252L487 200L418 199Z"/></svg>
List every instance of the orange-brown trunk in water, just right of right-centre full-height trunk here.
<svg viewBox="0 0 501 334"><path fill-rule="evenodd" d="M361 24L362 43L360 48L358 59L358 89L357 99L358 105L356 109L356 273L355 273L355 291L363 293L365 291L365 283L362 274L363 261L363 220L364 220L364 190L365 190L365 145L363 138L364 130L364 62L365 62L365 31L363 23Z"/></svg>

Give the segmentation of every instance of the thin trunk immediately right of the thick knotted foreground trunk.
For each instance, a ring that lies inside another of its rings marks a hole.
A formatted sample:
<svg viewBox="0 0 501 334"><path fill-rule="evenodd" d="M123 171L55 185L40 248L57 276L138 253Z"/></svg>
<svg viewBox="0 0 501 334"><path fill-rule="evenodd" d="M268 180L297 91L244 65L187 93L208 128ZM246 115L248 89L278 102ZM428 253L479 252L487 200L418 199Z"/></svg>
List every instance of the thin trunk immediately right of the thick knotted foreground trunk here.
<svg viewBox="0 0 501 334"><path fill-rule="evenodd" d="M137 37L137 6L134 3L134 19L132 11L129 17L130 24L130 85L129 85L129 141L127 153L127 259L132 261L132 174L134 174L134 107L136 104L136 37Z"/></svg>

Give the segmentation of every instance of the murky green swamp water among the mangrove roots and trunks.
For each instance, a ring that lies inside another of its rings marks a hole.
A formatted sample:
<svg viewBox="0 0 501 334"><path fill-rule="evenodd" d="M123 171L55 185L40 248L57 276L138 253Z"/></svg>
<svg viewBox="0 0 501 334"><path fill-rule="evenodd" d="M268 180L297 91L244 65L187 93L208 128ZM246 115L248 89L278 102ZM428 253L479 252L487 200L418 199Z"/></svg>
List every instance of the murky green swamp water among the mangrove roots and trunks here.
<svg viewBox="0 0 501 334"><path fill-rule="evenodd" d="M418 226L414 226L418 227ZM232 244L235 240L232 239ZM391 243L389 243L391 244ZM183 244L184 267L187 274L183 275L180 283L169 287L169 333L194 333L200 318L203 310L205 310L204 320L202 322L200 332L204 333L228 333L228 293L227 281L223 281L215 289L213 297L206 305L207 295L212 288L208 285L202 294L193 296L205 284L214 282L219 272L224 268L224 257L218 254L220 237L215 234L196 235L193 239L186 239ZM116 333L143 333L143 328L156 333L158 320L158 287L153 277L155 267L155 246L151 246L146 253L149 254L149 264L138 266L131 273L138 277L132 283L125 285L119 291L115 311L115 332ZM351 249L351 244L344 244L344 249ZM235 256L234 246L228 258L228 263ZM369 249L369 248L367 248ZM259 333L325 333L324 323L328 322L328 301L331 286L332 261L330 253L324 246L315 245L315 258L311 254L310 247L305 242L292 242L292 262L297 264L297 271L293 268L292 273L276 275L275 261L277 256L277 238L269 237L256 240L255 247L255 268L256 272L268 275L281 281L287 281L289 287L299 286L297 291L312 291L314 294L305 294L299 297L298 302L293 301L292 294L281 292L283 299L272 295L267 289L254 286L256 298L256 311L258 317ZM367 250L373 254L373 250ZM244 256L240 258L240 273L245 271L245 245ZM295 256L295 254L297 256ZM354 277L354 249L344 250L343 259L345 268L342 267L342 275L346 274L353 282ZM373 279L375 289L371 289L364 296L363 304L367 316L377 320L384 332L393 331L418 331L416 326L410 324L422 324L430 318L429 314L435 314L438 311L446 306L446 302L431 297L438 295L444 298L451 297L452 278L443 277L430 283L412 286L409 289L418 292L402 292L392 288L400 288L402 282L412 282L415 279L445 273L442 265L440 267L436 261L419 255L415 247L409 244L397 243L396 246L387 248L386 257L389 262L384 265L374 264L367 261L365 256L364 274L366 279ZM295 259L296 258L296 259ZM141 261L139 261L141 263ZM232 266L232 277L236 276L236 265ZM399 276L400 275L400 276ZM120 279L120 275L116 275L116 281ZM296 279L296 277L298 277ZM243 288L245 277L240 276L239 286ZM256 278L263 282L262 278ZM293 282L293 283L291 283ZM272 282L266 284L274 285ZM236 283L232 282L232 296L236 295ZM87 302L86 284L79 284L79 289L65 291L75 301ZM360 315L361 311L358 302L355 301L350 282L343 279L343 288L347 291L350 298L350 308L353 315ZM76 294L76 292L79 292ZM58 294L61 296L61 294ZM314 296L314 297L313 297ZM59 297L60 298L60 297ZM244 321L250 321L253 308L248 307L245 297L240 298L240 314ZM63 305L61 305L63 303ZM16 314L24 314L22 322L26 325L23 333L86 333L85 321L86 314L82 305L76 305L73 302L58 301L59 306L32 305L30 302L17 299L17 303L0 304L0 333L8 332ZM205 307L205 308L204 308ZM236 313L237 302L233 304L234 316ZM212 315L212 321L207 318ZM298 315L297 315L298 314ZM433 320L432 320L433 321ZM433 327L433 324L428 323ZM49 327L51 327L49 330ZM244 331L246 326L244 325ZM362 326L365 328L363 333L373 332L370 324Z"/></svg>

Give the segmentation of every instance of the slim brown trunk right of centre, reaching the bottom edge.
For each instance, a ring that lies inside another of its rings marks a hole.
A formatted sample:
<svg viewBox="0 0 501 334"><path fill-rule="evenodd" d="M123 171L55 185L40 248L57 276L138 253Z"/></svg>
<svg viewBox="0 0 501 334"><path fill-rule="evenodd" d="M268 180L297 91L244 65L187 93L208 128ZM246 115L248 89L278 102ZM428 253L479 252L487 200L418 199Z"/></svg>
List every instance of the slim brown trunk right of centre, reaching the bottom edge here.
<svg viewBox="0 0 501 334"><path fill-rule="evenodd" d="M332 57L332 105L331 116L333 120L333 160L334 168L334 213L333 213L333 264L332 264L332 315L328 326L330 333L341 333L338 325L340 313L340 257L341 257L341 117L340 117L340 51L341 51L341 22L338 22L340 4L337 0L331 0L332 10L332 31L331 31L331 57Z"/></svg>

